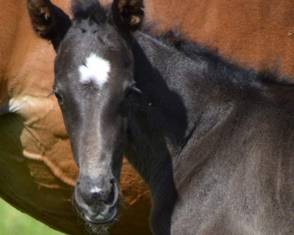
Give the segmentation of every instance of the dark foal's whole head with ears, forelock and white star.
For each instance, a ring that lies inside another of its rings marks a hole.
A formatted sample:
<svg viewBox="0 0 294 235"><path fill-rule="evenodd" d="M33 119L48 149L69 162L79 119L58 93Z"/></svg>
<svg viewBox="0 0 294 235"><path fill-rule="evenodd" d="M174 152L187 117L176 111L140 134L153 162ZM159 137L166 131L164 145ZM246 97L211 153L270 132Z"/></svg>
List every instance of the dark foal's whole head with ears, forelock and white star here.
<svg viewBox="0 0 294 235"><path fill-rule="evenodd" d="M142 0L74 1L73 20L49 0L28 0L35 31L57 52L53 91L80 173L75 205L91 223L118 211L118 180L126 134L125 97L135 89L131 33L142 22Z"/></svg>

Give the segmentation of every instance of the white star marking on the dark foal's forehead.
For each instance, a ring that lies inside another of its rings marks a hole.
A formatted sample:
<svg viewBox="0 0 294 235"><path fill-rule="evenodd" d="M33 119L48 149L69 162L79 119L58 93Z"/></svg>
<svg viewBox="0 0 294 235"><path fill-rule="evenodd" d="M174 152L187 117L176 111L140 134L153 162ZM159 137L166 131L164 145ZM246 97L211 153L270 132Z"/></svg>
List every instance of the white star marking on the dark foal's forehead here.
<svg viewBox="0 0 294 235"><path fill-rule="evenodd" d="M87 59L85 65L79 67L80 82L89 84L93 82L99 88L103 86L108 79L110 63L92 53Z"/></svg>

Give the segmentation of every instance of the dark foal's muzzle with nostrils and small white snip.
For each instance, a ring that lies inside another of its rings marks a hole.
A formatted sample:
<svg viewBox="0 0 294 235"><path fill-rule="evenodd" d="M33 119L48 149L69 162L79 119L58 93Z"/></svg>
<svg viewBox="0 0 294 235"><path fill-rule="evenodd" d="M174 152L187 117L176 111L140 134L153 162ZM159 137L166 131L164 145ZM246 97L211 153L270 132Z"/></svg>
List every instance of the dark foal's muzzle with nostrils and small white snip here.
<svg viewBox="0 0 294 235"><path fill-rule="evenodd" d="M74 201L89 223L111 223L118 214L119 189L114 179L80 176L74 188Z"/></svg>

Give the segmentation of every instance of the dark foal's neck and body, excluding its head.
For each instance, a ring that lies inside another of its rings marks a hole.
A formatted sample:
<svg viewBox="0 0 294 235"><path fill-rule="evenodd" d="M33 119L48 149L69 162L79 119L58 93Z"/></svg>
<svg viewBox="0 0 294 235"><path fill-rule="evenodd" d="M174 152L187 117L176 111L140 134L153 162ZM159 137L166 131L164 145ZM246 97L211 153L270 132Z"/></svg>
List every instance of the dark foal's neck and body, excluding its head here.
<svg viewBox="0 0 294 235"><path fill-rule="evenodd" d="M155 234L168 234L162 216L174 235L292 234L293 87L189 59L142 33L136 40L150 65L135 64L135 81L151 105L129 116L128 158L150 185Z"/></svg>

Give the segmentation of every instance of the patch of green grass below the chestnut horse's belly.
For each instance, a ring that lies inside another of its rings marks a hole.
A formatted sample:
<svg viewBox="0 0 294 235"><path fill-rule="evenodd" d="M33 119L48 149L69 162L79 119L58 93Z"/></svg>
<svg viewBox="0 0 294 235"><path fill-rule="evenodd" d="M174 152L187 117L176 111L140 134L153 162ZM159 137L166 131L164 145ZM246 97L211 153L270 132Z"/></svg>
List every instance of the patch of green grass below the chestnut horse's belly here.
<svg viewBox="0 0 294 235"><path fill-rule="evenodd" d="M64 235L0 199L0 235Z"/></svg>

